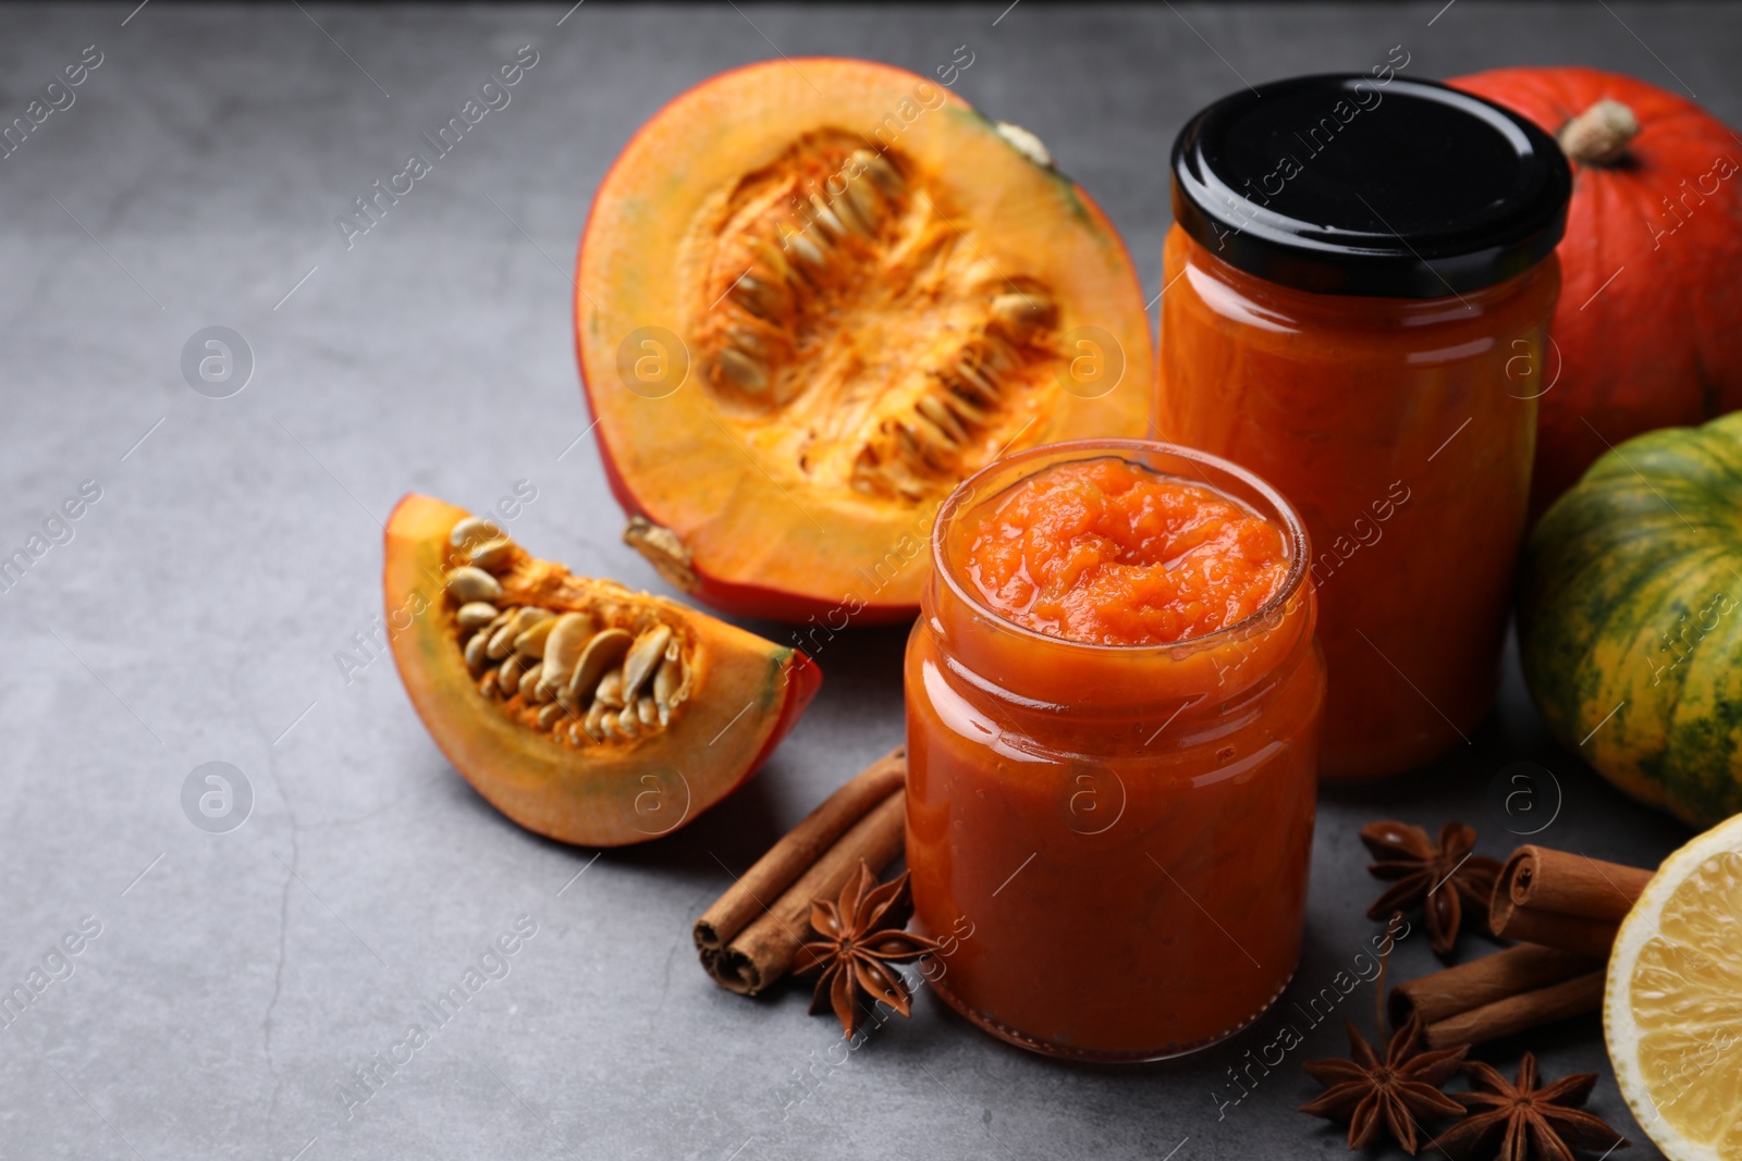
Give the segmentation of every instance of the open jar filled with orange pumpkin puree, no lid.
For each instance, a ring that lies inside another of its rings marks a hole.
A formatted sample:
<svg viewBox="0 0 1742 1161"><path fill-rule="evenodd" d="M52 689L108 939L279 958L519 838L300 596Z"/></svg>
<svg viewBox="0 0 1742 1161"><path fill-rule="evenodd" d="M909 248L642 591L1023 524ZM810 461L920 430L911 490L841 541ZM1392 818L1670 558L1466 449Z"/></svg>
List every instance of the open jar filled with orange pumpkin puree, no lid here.
<svg viewBox="0 0 1742 1161"><path fill-rule="evenodd" d="M932 533L908 641L908 867L937 992L1080 1060L1158 1060L1294 973L1324 661L1270 486L1143 440L1036 447Z"/></svg>

